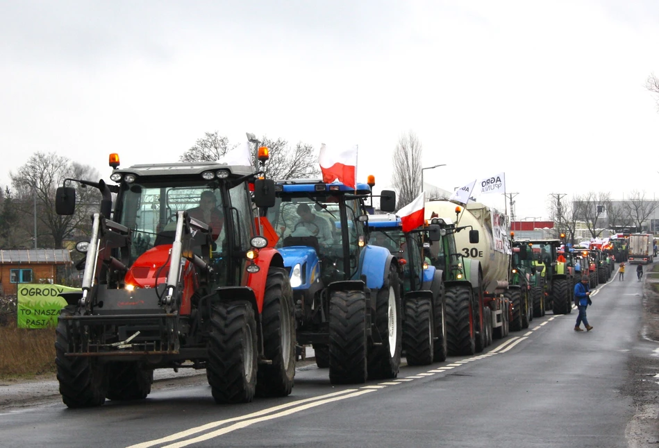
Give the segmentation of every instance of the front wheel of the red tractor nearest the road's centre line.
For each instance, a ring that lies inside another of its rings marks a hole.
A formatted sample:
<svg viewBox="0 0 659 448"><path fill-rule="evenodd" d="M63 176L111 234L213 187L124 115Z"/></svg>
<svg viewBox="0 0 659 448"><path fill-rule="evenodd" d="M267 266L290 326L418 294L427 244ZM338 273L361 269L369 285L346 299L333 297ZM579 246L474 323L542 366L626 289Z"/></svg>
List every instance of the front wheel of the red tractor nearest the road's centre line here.
<svg viewBox="0 0 659 448"><path fill-rule="evenodd" d="M212 306L208 341L208 384L215 402L248 403L256 392L256 320L250 304Z"/></svg>

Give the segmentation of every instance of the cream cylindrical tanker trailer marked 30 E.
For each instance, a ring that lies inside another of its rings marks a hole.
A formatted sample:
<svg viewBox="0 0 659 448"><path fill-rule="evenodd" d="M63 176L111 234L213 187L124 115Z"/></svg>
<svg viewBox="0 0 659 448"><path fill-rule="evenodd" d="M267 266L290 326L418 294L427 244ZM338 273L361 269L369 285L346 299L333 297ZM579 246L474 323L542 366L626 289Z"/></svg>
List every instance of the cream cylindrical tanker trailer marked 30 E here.
<svg viewBox="0 0 659 448"><path fill-rule="evenodd" d="M519 293L516 291L519 287L509 286L512 250L508 218L497 209L481 203L470 203L462 207L447 200L437 200L426 203L425 207L425 217L428 220L439 217L456 222L456 250L465 259L472 260L472 271L474 266L478 266L479 272L470 276L472 286L474 293L481 298L478 308L487 307L490 312L485 312L484 309L474 310L478 315L477 320L481 320L481 323L472 322L471 325L487 329L491 323L494 336L503 338L508 334L514 307L512 302L519 302ZM465 227L478 230L478 243L469 242L469 232L460 232ZM447 320L450 314L448 299L447 294ZM516 306L519 307L519 304ZM487 319L484 321L483 316L492 316L492 322L487 322ZM463 318L464 316L454 314L450 319L460 326L460 320Z"/></svg>

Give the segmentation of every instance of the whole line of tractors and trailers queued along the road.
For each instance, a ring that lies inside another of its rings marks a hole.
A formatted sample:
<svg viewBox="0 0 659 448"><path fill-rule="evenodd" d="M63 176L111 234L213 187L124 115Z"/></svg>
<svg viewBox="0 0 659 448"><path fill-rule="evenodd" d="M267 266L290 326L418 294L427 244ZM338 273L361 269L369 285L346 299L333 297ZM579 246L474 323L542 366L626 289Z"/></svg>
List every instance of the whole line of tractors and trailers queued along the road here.
<svg viewBox="0 0 659 448"><path fill-rule="evenodd" d="M403 232L401 218L369 214L370 176L353 188L215 162L124 169L113 154L110 166L115 184L69 179L56 193L61 215L74 182L102 196L78 244L81 291L62 295L56 327L69 407L144 399L156 368L205 369L217 403L283 397L306 345L332 384L394 378L401 356L474 354L547 310L569 313L578 273L597 286L613 270L602 250L515 240L479 203L426 203L426 223ZM396 193L379 203L394 212Z"/></svg>

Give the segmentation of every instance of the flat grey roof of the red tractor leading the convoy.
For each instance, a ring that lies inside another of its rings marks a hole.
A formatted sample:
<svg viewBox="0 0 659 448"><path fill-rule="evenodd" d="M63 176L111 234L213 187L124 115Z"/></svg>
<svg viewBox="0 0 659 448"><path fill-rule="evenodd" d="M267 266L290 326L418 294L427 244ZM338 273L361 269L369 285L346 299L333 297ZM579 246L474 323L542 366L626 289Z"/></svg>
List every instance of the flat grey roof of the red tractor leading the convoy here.
<svg viewBox="0 0 659 448"><path fill-rule="evenodd" d="M228 171L229 177L242 176L253 174L256 171L253 166L244 166L244 165L227 165L220 164L217 162L178 162L178 163L169 163L169 164L141 164L128 166L128 168L117 168L112 170L114 173L122 174L134 174L138 178L142 177L162 177L162 176L176 176L176 177L187 177L187 176L199 176L201 179L201 173L209 171L211 173L217 173L217 171Z"/></svg>

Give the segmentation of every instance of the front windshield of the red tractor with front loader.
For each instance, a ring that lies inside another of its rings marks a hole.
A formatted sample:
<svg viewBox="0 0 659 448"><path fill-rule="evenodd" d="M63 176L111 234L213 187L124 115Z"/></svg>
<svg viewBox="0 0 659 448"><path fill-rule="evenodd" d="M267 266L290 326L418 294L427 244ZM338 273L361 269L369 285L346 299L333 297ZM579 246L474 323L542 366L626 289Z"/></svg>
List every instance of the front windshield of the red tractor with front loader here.
<svg viewBox="0 0 659 448"><path fill-rule="evenodd" d="M124 191L119 222L133 231L131 257L135 259L155 245L171 244L176 233L176 212L182 210L210 225L212 239L221 241L224 218L219 189L206 185L132 184Z"/></svg>

